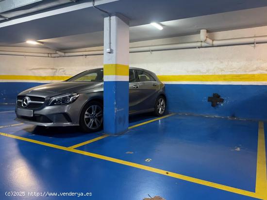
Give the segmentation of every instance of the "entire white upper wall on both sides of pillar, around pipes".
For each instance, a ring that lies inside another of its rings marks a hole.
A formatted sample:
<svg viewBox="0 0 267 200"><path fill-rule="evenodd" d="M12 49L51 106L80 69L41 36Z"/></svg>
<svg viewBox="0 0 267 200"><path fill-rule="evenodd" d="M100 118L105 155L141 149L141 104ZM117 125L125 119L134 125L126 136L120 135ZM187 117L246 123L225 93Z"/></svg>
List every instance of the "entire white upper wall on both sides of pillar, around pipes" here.
<svg viewBox="0 0 267 200"><path fill-rule="evenodd" d="M164 30L163 30L164 31ZM210 33L214 39L267 35L267 27ZM199 35L131 43L149 46L199 41ZM96 50L101 47L83 48ZM0 50L51 52L47 49L0 47ZM0 55L0 75L72 76L102 67L103 56L40 58ZM130 66L157 75L258 74L267 73L267 44L180 49L130 54Z"/></svg>

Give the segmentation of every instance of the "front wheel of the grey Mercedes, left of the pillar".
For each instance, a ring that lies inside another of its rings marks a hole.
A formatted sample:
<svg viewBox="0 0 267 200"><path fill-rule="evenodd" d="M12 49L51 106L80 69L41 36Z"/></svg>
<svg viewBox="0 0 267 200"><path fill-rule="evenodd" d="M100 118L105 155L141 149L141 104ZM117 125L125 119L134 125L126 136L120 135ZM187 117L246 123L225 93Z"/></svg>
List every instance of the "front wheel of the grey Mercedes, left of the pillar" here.
<svg viewBox="0 0 267 200"><path fill-rule="evenodd" d="M103 128L103 105L100 102L91 101L84 106L80 128L84 132L96 132Z"/></svg>

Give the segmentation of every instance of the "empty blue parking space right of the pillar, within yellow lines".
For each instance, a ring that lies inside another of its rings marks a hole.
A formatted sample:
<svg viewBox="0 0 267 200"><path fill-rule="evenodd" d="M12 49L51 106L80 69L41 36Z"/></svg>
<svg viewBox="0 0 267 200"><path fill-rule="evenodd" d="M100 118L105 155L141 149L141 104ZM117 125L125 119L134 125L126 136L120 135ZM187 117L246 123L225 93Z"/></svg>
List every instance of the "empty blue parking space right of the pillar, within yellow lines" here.
<svg viewBox="0 0 267 200"><path fill-rule="evenodd" d="M258 122L175 115L78 149L254 191L257 138Z"/></svg>

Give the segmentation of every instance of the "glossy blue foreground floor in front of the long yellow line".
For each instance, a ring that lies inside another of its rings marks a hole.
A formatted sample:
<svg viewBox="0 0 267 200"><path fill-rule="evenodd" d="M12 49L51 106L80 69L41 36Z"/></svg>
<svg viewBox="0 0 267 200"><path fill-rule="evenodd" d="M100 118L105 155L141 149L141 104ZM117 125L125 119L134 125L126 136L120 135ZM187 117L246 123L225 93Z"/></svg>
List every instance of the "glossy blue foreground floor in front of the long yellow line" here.
<svg viewBox="0 0 267 200"><path fill-rule="evenodd" d="M253 199L154 172L13 138L1 139L1 151L6 148L14 149L14 151L1 156L2 162L7 164L7 167L0 171L1 177L8 183L1 186L1 193L9 190L12 186L22 191L43 193L66 190L92 192L92 199L108 199L110 197L112 199L143 199L149 198L148 194L163 196L167 199L175 197L181 200L185 197L192 199L217 197L218 200ZM34 149L38 149L38 154L33 151ZM17 154L19 157L15 159ZM9 173L11 171L12 173ZM120 192L115 192L118 187L121 188ZM104 191L103 188L105 188ZM1 197L3 196L1 195ZM73 199L73 197L45 198ZM11 198L5 197L5 199ZM20 200L21 197L12 199ZM88 197L80 197L80 199L88 199Z"/></svg>

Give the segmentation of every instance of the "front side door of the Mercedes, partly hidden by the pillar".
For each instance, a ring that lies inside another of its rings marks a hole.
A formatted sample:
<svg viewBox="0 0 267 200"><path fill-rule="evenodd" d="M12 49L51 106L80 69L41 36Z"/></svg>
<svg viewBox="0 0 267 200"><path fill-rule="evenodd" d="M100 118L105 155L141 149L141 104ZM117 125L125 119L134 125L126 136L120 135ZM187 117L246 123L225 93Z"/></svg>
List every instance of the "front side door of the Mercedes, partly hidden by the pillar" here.
<svg viewBox="0 0 267 200"><path fill-rule="evenodd" d="M129 112L136 112L140 107L141 90L137 82L136 73L134 69L129 70Z"/></svg>

